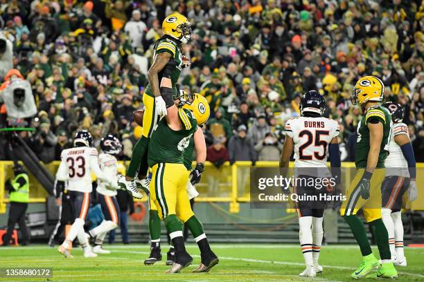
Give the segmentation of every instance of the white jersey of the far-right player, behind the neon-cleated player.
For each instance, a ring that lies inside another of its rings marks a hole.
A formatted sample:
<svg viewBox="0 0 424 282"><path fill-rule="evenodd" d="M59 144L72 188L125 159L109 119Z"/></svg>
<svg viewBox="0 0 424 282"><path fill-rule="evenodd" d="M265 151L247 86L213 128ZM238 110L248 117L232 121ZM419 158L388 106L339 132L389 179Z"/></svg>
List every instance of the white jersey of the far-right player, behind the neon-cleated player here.
<svg viewBox="0 0 424 282"><path fill-rule="evenodd" d="M385 160L386 176L409 177L408 162L403 156L402 149L394 140L395 136L408 135L408 126L402 122L391 125L391 136L389 140L389 156ZM389 169L390 167L395 169Z"/></svg>

